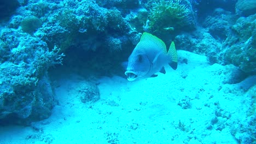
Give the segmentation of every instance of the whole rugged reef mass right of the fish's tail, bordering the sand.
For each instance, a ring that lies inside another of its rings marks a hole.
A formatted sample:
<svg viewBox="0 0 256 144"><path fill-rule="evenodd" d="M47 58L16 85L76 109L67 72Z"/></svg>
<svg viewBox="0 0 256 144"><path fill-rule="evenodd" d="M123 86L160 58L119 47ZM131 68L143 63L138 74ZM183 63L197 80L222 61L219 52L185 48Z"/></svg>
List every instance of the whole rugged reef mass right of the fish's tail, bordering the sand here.
<svg viewBox="0 0 256 144"><path fill-rule="evenodd" d="M247 74L255 74L256 14L240 17L215 9L192 33L175 37L180 49L206 55L211 63L234 64ZM242 76L242 77L243 77Z"/></svg>

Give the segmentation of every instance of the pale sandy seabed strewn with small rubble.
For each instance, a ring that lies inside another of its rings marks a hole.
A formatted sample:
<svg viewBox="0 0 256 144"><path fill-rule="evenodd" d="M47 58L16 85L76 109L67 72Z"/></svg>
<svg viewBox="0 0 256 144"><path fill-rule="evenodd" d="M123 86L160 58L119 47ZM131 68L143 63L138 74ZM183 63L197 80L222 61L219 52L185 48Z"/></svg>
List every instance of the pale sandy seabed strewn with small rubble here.
<svg viewBox="0 0 256 144"><path fill-rule="evenodd" d="M237 143L229 125L246 118L245 83L223 84L228 66L178 54L188 64L165 75L135 82L103 77L94 104L80 101L82 77L57 81L52 115L33 128L0 127L0 143Z"/></svg>

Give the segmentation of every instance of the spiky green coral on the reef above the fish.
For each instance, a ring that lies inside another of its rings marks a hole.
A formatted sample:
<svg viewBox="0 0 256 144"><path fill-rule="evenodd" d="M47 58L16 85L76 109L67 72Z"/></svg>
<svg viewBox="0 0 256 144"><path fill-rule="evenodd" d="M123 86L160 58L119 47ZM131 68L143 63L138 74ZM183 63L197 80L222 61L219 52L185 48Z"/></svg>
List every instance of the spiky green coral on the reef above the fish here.
<svg viewBox="0 0 256 144"><path fill-rule="evenodd" d="M149 14L149 29L155 33L175 31L187 25L191 11L176 1L153 3Z"/></svg>

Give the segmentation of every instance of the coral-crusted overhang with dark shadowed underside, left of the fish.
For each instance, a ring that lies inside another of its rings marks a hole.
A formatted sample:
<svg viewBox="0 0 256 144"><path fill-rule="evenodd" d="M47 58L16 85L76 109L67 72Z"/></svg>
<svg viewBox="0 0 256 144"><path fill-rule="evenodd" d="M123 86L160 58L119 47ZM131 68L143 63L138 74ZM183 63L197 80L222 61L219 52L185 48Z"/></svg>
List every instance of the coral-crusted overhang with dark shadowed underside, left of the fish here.
<svg viewBox="0 0 256 144"><path fill-rule="evenodd" d="M79 65L75 67L90 67L96 71L95 73L111 75L109 70L117 70L119 67L115 65L125 61L125 57L121 57L122 50L132 49L130 41L133 37L129 34L131 28L118 9L103 8L97 3L69 0L56 2L55 5L51 3L48 6L48 19L40 18L43 26L34 33L34 36L45 41L49 49L56 45L67 57L73 55L72 51L83 51L84 58L77 59L77 63L73 64ZM88 57L88 54L95 57ZM117 54L120 56L113 57ZM80 65L84 61L86 63ZM72 62L71 58L67 58L64 64Z"/></svg>

